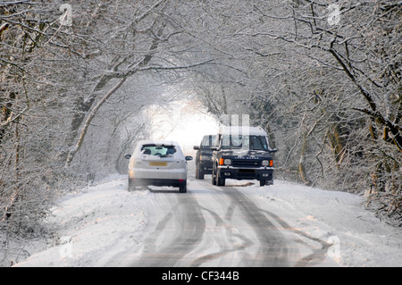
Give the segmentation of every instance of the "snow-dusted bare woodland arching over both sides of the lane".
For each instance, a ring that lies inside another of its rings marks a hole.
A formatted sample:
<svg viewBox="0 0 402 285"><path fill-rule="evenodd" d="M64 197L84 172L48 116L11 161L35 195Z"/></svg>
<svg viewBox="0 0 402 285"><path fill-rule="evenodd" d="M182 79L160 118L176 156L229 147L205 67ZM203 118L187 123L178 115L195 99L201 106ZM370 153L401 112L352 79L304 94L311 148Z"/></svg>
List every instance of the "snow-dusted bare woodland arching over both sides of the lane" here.
<svg viewBox="0 0 402 285"><path fill-rule="evenodd" d="M0 0L0 229L50 231L186 97L269 133L276 178L362 195L402 225L399 0ZM3 247L3 244L2 244Z"/></svg>

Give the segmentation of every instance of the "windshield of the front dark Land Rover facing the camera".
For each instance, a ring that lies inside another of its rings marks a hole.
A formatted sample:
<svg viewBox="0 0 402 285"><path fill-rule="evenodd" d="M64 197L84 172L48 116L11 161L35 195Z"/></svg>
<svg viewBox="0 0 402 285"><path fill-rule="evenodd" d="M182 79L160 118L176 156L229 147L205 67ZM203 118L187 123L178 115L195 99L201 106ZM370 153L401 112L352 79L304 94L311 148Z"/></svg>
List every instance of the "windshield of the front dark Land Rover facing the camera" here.
<svg viewBox="0 0 402 285"><path fill-rule="evenodd" d="M264 136L223 135L222 149L231 148L268 151L268 144Z"/></svg>

